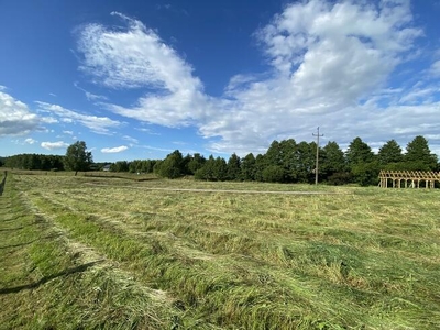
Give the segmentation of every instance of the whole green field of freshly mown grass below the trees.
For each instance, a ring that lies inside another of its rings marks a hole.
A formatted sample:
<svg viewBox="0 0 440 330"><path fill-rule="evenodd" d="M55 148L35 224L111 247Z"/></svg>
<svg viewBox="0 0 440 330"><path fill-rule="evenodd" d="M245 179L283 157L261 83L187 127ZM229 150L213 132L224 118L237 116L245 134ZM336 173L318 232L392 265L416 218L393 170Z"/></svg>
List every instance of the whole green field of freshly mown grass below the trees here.
<svg viewBox="0 0 440 330"><path fill-rule="evenodd" d="M10 173L0 306L0 329L440 329L440 191Z"/></svg>

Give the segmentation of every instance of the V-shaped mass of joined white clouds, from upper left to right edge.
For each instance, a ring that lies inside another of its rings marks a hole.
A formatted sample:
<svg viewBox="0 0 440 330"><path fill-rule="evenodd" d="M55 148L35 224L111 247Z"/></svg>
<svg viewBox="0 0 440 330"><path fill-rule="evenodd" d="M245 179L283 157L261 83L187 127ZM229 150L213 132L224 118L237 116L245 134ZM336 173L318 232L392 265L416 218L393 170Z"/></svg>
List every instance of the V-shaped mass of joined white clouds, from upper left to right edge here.
<svg viewBox="0 0 440 330"><path fill-rule="evenodd" d="M271 69L232 77L220 97L204 91L191 66L156 32L113 14L125 29L90 24L81 30L80 69L97 84L145 94L134 105L102 106L143 122L195 125L211 151L264 152L274 139L310 141L318 125L341 143L358 135L373 143L407 139L408 127L417 134L437 129L427 124L439 111L438 89L389 85L395 68L417 54L416 41L424 35L409 0L286 6L255 32ZM437 69L436 63L431 73Z"/></svg>

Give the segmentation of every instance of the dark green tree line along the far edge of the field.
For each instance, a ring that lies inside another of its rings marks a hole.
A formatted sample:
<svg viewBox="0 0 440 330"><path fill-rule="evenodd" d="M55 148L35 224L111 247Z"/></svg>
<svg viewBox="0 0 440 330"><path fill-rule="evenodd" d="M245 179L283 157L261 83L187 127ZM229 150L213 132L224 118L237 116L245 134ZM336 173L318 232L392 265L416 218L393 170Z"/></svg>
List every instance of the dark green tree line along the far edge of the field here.
<svg viewBox="0 0 440 330"><path fill-rule="evenodd" d="M265 154L250 153L244 157L232 154L228 161L210 155L206 158L196 153L184 156L176 150L164 160L119 161L110 164L111 172L155 173L166 178L194 176L201 180L245 180L267 183L314 183L316 170L315 142L294 139L273 141ZM0 165L23 169L102 169L106 163L94 163L86 143L72 144L65 156L20 154L0 160ZM355 138L345 152L337 142L328 142L319 148L319 182L330 185L356 183L362 186L377 185L381 169L440 170L436 154L428 141L419 135L404 151L395 140L386 142L376 153Z"/></svg>

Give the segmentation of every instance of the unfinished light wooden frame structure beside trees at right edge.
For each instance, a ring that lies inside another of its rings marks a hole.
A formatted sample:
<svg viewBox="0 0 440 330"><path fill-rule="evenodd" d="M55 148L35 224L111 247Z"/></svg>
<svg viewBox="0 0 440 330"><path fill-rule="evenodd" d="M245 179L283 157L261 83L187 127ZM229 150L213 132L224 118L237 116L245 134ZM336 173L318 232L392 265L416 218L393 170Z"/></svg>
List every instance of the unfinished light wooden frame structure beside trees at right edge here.
<svg viewBox="0 0 440 330"><path fill-rule="evenodd" d="M433 189L436 182L440 183L440 173L424 170L381 170L378 186L382 188L420 188L420 183L425 183L425 188Z"/></svg>

